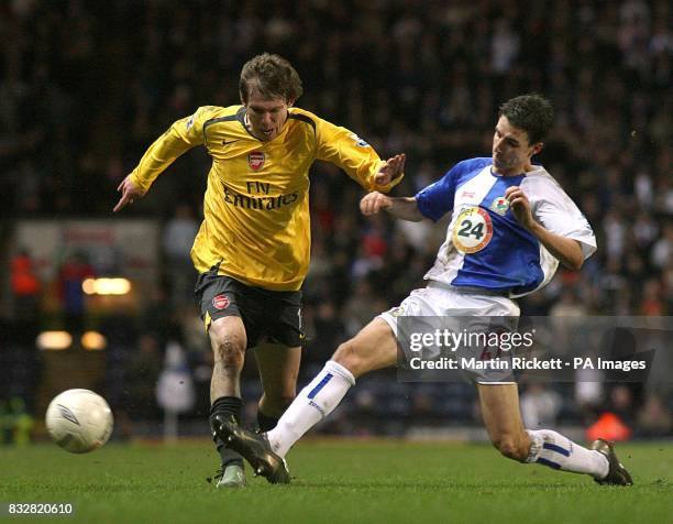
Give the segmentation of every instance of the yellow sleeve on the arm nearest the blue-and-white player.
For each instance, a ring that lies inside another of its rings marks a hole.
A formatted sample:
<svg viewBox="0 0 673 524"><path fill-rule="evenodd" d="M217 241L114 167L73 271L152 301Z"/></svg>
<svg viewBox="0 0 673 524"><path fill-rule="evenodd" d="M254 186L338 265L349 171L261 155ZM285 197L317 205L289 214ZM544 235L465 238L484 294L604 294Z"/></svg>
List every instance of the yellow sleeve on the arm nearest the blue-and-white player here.
<svg viewBox="0 0 673 524"><path fill-rule="evenodd" d="M340 128L322 119L316 119L316 157L341 167L362 187L372 192L389 192L402 179L398 176L385 186L374 183L374 176L385 162L374 148L345 128Z"/></svg>

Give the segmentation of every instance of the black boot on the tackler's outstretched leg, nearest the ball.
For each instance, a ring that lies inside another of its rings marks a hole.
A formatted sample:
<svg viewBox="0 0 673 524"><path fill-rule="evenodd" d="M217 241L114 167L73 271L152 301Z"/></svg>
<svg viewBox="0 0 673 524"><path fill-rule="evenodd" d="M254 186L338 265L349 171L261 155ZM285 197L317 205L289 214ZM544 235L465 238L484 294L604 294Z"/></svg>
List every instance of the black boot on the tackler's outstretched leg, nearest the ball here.
<svg viewBox="0 0 673 524"><path fill-rule="evenodd" d="M243 429L234 417L227 419L220 415L214 417L213 429L227 446L251 463L256 474L266 478L272 484L289 483L285 459L272 450L266 434Z"/></svg>

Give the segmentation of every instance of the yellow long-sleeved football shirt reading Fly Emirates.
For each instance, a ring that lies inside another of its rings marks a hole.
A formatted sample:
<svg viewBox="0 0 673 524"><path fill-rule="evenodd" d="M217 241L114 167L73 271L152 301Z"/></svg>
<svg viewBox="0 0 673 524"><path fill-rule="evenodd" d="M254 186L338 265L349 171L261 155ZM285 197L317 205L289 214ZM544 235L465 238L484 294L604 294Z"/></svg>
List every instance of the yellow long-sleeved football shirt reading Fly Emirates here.
<svg viewBox="0 0 673 524"><path fill-rule="evenodd" d="M280 133L262 142L244 124L245 107L205 106L175 122L131 173L146 192L178 156L203 144L212 157L203 197L203 222L191 260L249 285L273 291L301 287L310 259L309 168L331 162L367 190L383 161L345 128L290 108Z"/></svg>

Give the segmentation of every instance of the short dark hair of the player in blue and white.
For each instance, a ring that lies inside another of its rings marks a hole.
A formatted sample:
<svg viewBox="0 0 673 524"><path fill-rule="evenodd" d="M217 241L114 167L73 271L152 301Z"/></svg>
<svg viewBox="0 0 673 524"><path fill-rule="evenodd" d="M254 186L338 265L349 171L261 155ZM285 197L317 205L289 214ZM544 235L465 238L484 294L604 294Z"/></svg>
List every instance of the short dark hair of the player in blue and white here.
<svg viewBox="0 0 673 524"><path fill-rule="evenodd" d="M498 117L507 117L509 123L526 131L528 142L534 144L547 138L554 121L554 109L547 98L532 92L507 100L500 106Z"/></svg>

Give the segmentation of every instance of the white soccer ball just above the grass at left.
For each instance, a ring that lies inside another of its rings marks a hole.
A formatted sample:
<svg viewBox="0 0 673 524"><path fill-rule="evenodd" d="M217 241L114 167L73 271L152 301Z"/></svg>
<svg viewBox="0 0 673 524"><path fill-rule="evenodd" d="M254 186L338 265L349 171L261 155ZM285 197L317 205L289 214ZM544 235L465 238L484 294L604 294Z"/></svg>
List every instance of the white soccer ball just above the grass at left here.
<svg viewBox="0 0 673 524"><path fill-rule="evenodd" d="M104 445L112 434L112 411L106 400L89 390L67 390L47 407L46 427L66 451L86 454Z"/></svg>

